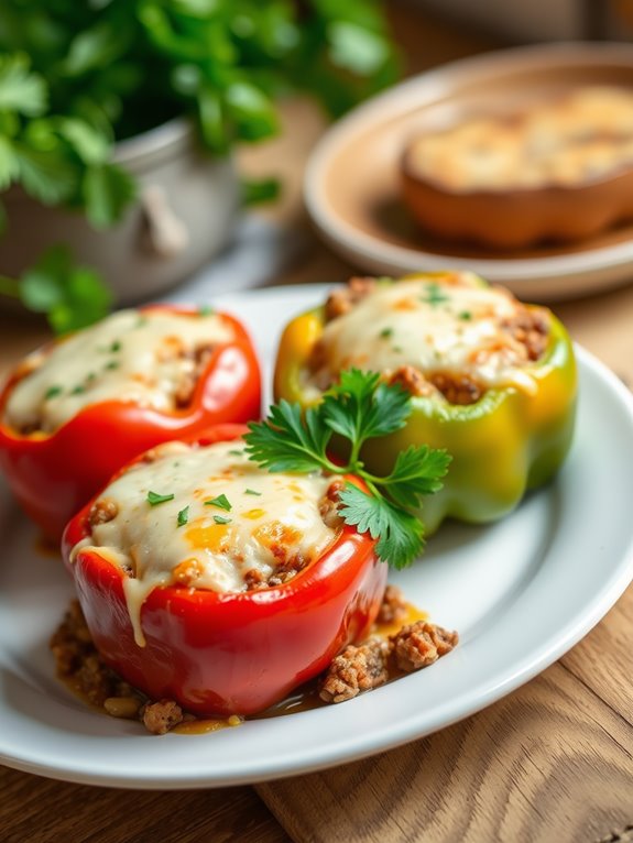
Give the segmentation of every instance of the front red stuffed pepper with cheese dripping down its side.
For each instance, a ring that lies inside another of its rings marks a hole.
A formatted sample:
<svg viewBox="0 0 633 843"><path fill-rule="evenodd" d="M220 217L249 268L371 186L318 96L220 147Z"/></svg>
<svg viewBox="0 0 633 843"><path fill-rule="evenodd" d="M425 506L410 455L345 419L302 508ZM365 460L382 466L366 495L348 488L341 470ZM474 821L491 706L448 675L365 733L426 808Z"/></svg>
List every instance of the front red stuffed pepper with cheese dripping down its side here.
<svg viewBox="0 0 633 843"><path fill-rule="evenodd" d="M262 470L244 430L138 458L63 539L103 660L198 715L253 714L320 674L386 582L375 543L338 517L340 481Z"/></svg>

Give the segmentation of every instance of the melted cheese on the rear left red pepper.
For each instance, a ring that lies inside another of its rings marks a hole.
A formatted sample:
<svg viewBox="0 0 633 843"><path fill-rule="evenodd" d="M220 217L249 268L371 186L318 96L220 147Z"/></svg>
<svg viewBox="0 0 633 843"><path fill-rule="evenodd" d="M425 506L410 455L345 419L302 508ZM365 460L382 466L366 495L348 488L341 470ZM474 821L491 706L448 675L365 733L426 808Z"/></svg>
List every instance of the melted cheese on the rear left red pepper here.
<svg viewBox="0 0 633 843"><path fill-rule="evenodd" d="M28 358L32 371L11 392L4 423L51 433L84 407L111 399L173 410L181 385L196 372L196 349L232 338L212 314L119 310Z"/></svg>

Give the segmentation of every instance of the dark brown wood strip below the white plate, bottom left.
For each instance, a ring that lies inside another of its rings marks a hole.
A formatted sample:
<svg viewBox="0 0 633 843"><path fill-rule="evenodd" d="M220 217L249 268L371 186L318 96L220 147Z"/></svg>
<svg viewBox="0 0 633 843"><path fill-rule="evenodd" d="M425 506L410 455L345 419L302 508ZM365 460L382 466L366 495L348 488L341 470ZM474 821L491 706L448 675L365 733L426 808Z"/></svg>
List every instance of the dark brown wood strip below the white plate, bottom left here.
<svg viewBox="0 0 633 843"><path fill-rule="evenodd" d="M140 791L0 767L2 843L291 843L248 787Z"/></svg>

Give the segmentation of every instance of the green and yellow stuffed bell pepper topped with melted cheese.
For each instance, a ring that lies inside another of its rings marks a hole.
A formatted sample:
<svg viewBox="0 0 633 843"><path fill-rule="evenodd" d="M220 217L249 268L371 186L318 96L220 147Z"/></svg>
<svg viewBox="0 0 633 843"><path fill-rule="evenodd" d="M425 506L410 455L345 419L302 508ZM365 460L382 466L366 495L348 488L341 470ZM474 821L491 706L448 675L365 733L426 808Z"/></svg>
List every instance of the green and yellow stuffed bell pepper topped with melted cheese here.
<svg viewBox="0 0 633 843"><path fill-rule="evenodd" d="M405 426L365 445L369 471L388 472L412 445L452 455L443 490L424 502L427 534L448 516L502 517L569 450L577 377L567 331L473 273L353 278L334 291L285 328L275 398L309 406L350 368L381 372L413 397Z"/></svg>

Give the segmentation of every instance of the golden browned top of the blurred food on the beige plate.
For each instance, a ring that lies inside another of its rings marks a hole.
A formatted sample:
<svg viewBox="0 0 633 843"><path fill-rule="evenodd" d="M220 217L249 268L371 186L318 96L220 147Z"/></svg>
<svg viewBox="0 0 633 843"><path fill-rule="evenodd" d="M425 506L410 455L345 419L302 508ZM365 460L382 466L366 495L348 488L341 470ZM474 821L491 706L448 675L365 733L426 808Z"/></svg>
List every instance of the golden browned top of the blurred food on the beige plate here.
<svg viewBox="0 0 633 843"><path fill-rule="evenodd" d="M411 168L451 190L578 186L633 164L633 92L580 88L512 118L416 139Z"/></svg>

